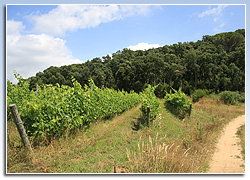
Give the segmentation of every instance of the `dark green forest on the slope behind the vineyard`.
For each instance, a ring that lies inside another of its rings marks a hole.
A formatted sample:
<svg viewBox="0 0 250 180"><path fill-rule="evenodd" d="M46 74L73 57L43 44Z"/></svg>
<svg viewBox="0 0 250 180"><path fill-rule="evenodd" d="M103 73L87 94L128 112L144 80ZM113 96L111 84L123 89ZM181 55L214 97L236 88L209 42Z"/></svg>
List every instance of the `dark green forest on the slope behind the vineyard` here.
<svg viewBox="0 0 250 180"><path fill-rule="evenodd" d="M125 48L82 64L51 66L28 78L29 88L35 90L36 84L56 83L72 87L72 77L82 87L93 79L99 88L128 92L141 92L149 84L158 85L159 96L171 88L181 88L188 95L196 89L244 92L245 29L148 50Z"/></svg>

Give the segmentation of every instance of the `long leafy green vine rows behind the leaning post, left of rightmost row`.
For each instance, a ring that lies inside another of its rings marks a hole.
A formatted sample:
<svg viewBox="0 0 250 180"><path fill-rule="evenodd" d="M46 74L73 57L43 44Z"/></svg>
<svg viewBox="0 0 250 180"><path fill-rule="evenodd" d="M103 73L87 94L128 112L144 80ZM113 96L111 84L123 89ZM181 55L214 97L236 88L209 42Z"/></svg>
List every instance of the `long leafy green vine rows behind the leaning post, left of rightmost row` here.
<svg viewBox="0 0 250 180"><path fill-rule="evenodd" d="M66 85L42 85L36 91L29 90L29 82L15 73L17 85L7 82L7 105L15 103L28 136L37 140L51 140L66 131L88 128L93 121L107 120L142 103L151 107L151 120L159 113L159 102L154 95L155 87L137 94L133 91L117 91L98 88L93 80L82 87L72 78L73 87ZM8 119L11 113L8 109Z"/></svg>

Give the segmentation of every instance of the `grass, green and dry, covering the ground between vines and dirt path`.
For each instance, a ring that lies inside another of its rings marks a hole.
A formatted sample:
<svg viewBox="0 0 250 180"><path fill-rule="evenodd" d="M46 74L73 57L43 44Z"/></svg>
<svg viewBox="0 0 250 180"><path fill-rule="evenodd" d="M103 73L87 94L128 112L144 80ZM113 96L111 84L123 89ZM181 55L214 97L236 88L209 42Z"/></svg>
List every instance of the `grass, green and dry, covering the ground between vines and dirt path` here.
<svg viewBox="0 0 250 180"><path fill-rule="evenodd" d="M22 146L13 122L7 124L8 173L203 173L221 129L244 114L244 104L214 98L193 104L191 117L179 120L160 100L160 114L147 128L140 106L67 133L50 144ZM32 140L31 140L32 142Z"/></svg>

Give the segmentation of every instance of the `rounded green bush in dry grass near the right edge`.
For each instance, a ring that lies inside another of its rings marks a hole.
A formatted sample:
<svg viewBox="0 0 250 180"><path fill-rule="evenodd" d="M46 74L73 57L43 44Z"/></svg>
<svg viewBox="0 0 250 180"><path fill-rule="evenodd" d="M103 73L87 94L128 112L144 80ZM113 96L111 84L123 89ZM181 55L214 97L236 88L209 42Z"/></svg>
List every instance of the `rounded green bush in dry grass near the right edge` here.
<svg viewBox="0 0 250 180"><path fill-rule="evenodd" d="M233 91L224 91L219 94L220 99L224 101L226 104L236 104L237 101L240 99L240 94L238 92ZM242 97L241 97L242 98ZM243 98L241 99L241 101ZM244 98L245 101L245 98Z"/></svg>

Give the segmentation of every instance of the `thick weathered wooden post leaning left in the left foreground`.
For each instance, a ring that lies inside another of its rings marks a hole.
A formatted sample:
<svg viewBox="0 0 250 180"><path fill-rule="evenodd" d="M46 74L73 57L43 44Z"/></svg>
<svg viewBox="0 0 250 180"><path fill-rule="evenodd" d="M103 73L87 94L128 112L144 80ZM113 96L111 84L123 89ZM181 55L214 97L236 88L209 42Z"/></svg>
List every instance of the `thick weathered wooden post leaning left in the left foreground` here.
<svg viewBox="0 0 250 180"><path fill-rule="evenodd" d="M29 150L33 153L31 146L30 146L30 142L29 142L28 137L27 137L27 134L26 134L25 129L23 127L22 120L18 114L16 104L10 104L9 107L10 107L10 110L11 110L12 116L14 118L17 130L20 134L20 137L22 139L24 146L28 147Z"/></svg>

